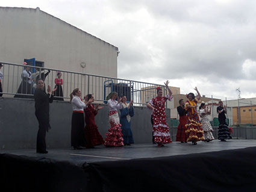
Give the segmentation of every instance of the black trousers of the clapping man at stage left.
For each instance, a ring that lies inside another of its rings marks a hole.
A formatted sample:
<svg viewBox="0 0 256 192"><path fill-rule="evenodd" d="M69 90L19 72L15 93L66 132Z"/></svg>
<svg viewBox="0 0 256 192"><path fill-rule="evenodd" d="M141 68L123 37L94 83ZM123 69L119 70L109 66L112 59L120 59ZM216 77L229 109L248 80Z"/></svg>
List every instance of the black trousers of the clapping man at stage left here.
<svg viewBox="0 0 256 192"><path fill-rule="evenodd" d="M45 137L46 131L49 127L49 122L46 122L45 120L40 119L39 117L37 117L37 120L39 122L39 129L37 132L37 152L43 152L46 150Z"/></svg>

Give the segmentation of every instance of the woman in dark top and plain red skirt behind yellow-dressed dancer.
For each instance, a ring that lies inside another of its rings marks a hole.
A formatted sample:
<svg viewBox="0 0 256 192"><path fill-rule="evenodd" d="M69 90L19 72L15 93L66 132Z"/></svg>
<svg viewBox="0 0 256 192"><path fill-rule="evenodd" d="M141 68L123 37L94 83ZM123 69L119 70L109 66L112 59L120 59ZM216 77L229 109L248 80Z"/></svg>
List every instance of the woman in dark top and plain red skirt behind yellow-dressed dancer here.
<svg viewBox="0 0 256 192"><path fill-rule="evenodd" d="M186 134L186 123L187 123L187 116L186 110L184 109L184 100L180 99L179 101L180 106L177 107L177 111L180 116L180 124L178 125L178 131L176 134L176 141L180 141L181 143L187 143L187 134Z"/></svg>

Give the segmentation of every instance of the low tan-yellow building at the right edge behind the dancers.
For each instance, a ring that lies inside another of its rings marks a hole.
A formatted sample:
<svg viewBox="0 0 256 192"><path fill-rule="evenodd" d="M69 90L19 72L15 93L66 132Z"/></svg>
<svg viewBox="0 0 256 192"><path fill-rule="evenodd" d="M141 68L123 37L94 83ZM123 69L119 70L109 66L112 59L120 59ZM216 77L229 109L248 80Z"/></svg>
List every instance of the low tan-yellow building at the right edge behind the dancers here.
<svg viewBox="0 0 256 192"><path fill-rule="evenodd" d="M233 107L233 122L234 125L239 124L239 113L238 107ZM243 106L240 107L240 119L241 124L256 124L256 106Z"/></svg>

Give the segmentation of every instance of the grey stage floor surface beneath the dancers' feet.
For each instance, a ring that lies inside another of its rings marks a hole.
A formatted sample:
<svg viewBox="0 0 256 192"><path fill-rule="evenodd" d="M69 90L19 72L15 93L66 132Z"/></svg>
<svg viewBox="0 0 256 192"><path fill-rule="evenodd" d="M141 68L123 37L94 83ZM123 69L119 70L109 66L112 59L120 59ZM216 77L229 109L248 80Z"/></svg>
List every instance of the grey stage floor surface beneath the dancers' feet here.
<svg viewBox="0 0 256 192"><path fill-rule="evenodd" d="M186 155L190 153L213 152L219 150L242 149L255 147L256 140L219 140L205 143L199 141L197 145L191 143L173 142L158 148L156 144L133 144L124 147L96 146L94 149L48 149L49 153L39 154L35 149L0 150L0 153L11 153L14 155L25 155L31 157L45 157L57 161L69 161L73 164L92 163L96 161L117 161L134 158L154 158L158 156Z"/></svg>

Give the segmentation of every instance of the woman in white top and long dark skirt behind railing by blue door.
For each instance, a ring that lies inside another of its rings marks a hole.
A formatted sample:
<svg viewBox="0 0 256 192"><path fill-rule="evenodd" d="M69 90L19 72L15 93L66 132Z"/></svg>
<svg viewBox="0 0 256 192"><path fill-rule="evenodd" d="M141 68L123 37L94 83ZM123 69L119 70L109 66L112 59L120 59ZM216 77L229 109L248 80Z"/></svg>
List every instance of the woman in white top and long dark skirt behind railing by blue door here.
<svg viewBox="0 0 256 192"><path fill-rule="evenodd" d="M24 62L23 64L25 66L25 69L22 72L22 82L19 85L17 93L32 94L33 78L31 76L30 67L28 66L27 62ZM33 96L15 94L14 98L33 98Z"/></svg>

